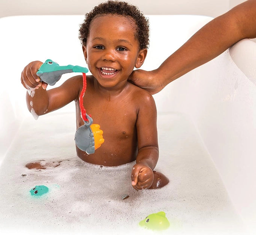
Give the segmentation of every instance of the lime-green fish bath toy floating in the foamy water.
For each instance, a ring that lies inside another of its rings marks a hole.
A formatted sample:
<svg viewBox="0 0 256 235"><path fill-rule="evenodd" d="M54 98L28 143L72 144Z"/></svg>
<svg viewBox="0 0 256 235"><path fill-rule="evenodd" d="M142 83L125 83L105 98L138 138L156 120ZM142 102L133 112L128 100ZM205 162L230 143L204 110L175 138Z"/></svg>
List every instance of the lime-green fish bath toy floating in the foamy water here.
<svg viewBox="0 0 256 235"><path fill-rule="evenodd" d="M144 228L160 231L167 229L170 226L170 222L164 212L158 212L150 214L146 219L141 220L139 225Z"/></svg>

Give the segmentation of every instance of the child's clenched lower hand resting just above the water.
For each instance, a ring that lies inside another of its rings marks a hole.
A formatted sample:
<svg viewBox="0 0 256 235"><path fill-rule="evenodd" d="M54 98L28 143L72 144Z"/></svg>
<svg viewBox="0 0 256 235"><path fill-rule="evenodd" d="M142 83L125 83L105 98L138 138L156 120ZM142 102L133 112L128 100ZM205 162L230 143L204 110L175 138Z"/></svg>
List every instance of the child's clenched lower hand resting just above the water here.
<svg viewBox="0 0 256 235"><path fill-rule="evenodd" d="M137 163L132 167L131 180L132 187L136 190L145 190L149 188L154 179L153 170L141 163Z"/></svg>

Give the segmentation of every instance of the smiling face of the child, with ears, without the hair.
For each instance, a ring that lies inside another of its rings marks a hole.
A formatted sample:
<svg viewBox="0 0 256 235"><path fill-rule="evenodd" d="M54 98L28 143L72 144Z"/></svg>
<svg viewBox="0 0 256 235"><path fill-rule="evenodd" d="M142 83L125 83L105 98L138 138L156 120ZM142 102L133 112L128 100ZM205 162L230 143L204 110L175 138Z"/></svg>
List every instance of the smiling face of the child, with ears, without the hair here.
<svg viewBox="0 0 256 235"><path fill-rule="evenodd" d="M131 18L119 15L98 16L92 21L83 51L102 87L124 86L134 67L143 64L147 49L139 50L135 27Z"/></svg>

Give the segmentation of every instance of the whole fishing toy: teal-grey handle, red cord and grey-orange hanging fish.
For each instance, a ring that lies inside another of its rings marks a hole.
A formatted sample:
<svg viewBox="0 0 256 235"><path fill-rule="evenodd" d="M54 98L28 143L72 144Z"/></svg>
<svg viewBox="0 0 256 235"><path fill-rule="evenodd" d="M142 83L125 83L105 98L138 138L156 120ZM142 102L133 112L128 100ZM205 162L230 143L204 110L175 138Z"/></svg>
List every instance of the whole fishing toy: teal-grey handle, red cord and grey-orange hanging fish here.
<svg viewBox="0 0 256 235"><path fill-rule="evenodd" d="M41 65L36 75L40 77L41 81L54 85L60 80L61 75L64 73L80 72L83 73L83 89L79 96L79 107L81 110L81 116L84 125L80 126L75 134L76 146L80 150L85 151L87 154L92 154L95 150L103 144L103 131L100 129L100 125L92 124L92 118L86 114L86 110L83 107L83 96L86 91L86 75L88 72L87 68L81 66L60 66L54 61L48 59Z"/></svg>

